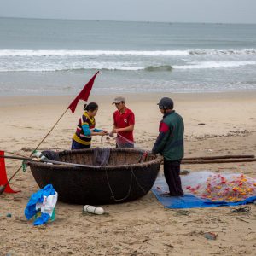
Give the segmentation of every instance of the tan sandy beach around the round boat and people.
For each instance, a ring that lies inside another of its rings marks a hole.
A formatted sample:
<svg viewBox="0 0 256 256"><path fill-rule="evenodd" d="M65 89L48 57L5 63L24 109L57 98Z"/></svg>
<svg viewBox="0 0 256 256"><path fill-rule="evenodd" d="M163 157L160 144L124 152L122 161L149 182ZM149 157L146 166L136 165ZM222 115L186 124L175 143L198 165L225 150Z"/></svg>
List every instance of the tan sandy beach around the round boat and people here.
<svg viewBox="0 0 256 256"><path fill-rule="evenodd" d="M111 131L114 96L90 96L100 107L96 127ZM171 96L185 123L185 157L256 152L255 91L124 96L136 116L137 148L153 147L161 119L156 103ZM29 155L73 97L0 97L0 150ZM40 149L69 149L82 107L80 102L74 114L68 111ZM93 147L114 144L100 137L92 142ZM8 177L19 166L19 160L6 160ZM256 177L256 162L183 165L182 170ZM27 201L38 190L29 168L11 186L21 192L0 195L0 255L255 255L256 205L250 205L249 215L231 213L230 207L171 210L149 192L137 201L102 206L108 214L96 216L83 213L83 206L58 201L55 221L34 227L24 216ZM205 232L217 234L217 239L207 240Z"/></svg>

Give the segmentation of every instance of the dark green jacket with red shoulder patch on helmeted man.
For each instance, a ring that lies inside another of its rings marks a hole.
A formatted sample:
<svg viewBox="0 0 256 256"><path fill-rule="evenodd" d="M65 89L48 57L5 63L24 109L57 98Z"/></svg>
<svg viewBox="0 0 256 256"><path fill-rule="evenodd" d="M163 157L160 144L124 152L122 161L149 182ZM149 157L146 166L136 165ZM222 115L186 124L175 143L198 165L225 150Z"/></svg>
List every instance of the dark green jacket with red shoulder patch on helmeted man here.
<svg viewBox="0 0 256 256"><path fill-rule="evenodd" d="M166 113L160 121L153 154L162 154L166 160L181 160L184 156L184 123L183 118L174 110Z"/></svg>

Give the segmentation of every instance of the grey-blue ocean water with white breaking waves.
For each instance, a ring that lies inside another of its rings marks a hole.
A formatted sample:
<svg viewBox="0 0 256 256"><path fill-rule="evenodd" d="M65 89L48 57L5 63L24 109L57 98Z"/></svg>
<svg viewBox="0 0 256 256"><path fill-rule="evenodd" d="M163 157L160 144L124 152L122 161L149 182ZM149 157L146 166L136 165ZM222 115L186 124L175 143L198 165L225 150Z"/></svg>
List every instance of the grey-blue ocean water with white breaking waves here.
<svg viewBox="0 0 256 256"><path fill-rule="evenodd" d="M256 90L256 25L0 18L0 96Z"/></svg>

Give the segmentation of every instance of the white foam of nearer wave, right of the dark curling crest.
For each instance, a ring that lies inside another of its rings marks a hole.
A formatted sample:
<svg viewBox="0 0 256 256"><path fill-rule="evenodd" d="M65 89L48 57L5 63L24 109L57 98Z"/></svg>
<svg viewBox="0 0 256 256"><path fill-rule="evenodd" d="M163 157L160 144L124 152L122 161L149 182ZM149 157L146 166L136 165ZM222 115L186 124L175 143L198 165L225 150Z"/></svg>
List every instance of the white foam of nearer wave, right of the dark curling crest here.
<svg viewBox="0 0 256 256"><path fill-rule="evenodd" d="M205 69L221 67L241 67L247 65L256 65L256 61L201 61L190 62L189 65L174 65L175 69Z"/></svg>

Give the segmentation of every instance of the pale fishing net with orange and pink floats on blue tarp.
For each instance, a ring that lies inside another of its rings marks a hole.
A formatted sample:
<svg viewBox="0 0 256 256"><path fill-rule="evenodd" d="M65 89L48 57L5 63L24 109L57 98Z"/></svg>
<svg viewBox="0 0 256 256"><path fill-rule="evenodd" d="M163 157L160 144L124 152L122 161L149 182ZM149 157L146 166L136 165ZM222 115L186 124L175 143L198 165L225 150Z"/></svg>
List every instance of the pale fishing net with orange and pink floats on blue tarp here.
<svg viewBox="0 0 256 256"><path fill-rule="evenodd" d="M256 196L256 179L242 173L194 172L182 178L183 190L211 201L242 201Z"/></svg>

